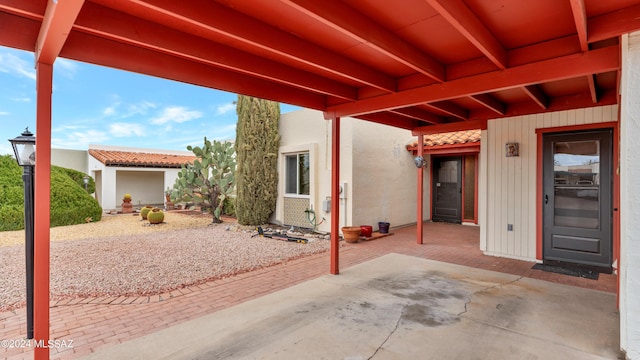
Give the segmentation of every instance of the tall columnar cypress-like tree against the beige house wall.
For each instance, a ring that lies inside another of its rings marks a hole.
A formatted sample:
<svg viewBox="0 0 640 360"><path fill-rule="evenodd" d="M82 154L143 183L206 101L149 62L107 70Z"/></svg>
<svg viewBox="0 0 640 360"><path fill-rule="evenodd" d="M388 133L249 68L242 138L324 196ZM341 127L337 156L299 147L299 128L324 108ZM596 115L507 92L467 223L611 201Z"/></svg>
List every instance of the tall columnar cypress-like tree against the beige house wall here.
<svg viewBox="0 0 640 360"><path fill-rule="evenodd" d="M238 95L236 112L236 216L243 225L264 224L278 195L280 104Z"/></svg>

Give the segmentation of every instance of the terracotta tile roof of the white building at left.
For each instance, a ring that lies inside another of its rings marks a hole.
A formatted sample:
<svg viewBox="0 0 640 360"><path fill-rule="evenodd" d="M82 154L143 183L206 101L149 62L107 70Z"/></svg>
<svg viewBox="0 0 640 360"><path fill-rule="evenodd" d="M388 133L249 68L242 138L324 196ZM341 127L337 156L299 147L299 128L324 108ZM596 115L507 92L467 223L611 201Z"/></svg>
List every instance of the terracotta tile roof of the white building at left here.
<svg viewBox="0 0 640 360"><path fill-rule="evenodd" d="M107 166L179 168L195 156L89 149L89 154Z"/></svg>

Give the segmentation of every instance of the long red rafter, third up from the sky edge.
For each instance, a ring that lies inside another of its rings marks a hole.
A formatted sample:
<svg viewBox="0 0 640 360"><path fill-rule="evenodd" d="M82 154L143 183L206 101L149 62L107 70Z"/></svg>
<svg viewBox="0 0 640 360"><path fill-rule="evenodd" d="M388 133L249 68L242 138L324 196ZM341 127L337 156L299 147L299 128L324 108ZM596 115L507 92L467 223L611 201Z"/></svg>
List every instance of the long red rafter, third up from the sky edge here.
<svg viewBox="0 0 640 360"><path fill-rule="evenodd" d="M341 54L265 24L231 8L209 0L96 0L104 6L130 13L152 22L166 23L179 31L216 40L231 38L323 71L395 92L396 81Z"/></svg>

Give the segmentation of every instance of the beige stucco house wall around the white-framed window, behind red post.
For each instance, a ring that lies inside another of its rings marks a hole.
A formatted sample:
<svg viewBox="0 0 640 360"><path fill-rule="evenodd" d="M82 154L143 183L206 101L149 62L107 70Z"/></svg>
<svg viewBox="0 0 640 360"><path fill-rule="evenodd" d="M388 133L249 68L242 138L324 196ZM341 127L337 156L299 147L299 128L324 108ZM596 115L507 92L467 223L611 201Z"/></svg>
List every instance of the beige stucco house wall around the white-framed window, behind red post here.
<svg viewBox="0 0 640 360"><path fill-rule="evenodd" d="M311 187L310 195L302 198L308 199L317 222L325 218L318 230L329 232L331 214L322 205L331 196L331 121L315 110L286 113L280 118L280 135L278 200L272 221L286 223L284 156L305 151L310 155ZM411 133L342 118L340 137L340 182L346 186L340 199L339 226L369 224L375 229L382 220L391 226L415 223L416 170L405 148L413 139ZM311 224L307 221L305 227Z"/></svg>

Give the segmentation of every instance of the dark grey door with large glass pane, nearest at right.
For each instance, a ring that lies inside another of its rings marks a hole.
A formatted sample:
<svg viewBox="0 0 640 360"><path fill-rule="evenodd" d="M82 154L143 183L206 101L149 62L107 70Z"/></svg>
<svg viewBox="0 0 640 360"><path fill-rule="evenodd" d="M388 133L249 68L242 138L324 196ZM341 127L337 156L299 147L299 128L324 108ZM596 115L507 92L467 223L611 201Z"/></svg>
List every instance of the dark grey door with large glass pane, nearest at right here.
<svg viewBox="0 0 640 360"><path fill-rule="evenodd" d="M611 271L612 132L543 138L543 258Z"/></svg>

